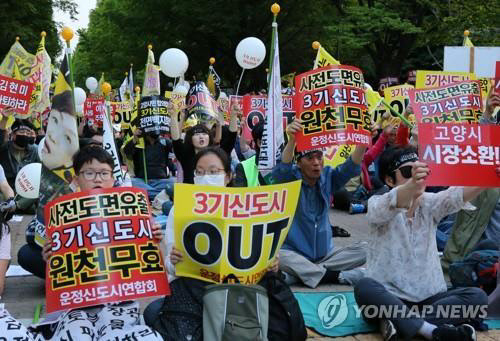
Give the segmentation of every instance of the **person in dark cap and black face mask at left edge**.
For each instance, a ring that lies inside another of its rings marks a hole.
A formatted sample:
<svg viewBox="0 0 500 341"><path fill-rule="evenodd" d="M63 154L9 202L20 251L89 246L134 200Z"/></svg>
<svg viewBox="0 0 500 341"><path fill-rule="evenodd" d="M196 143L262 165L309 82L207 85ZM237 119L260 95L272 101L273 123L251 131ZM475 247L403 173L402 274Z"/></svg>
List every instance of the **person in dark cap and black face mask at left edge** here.
<svg viewBox="0 0 500 341"><path fill-rule="evenodd" d="M35 127L27 120L16 119L11 127L10 141L6 142L7 130L3 119L0 123L0 164L10 187L15 188L16 175L21 168L40 162L35 143Z"/></svg>

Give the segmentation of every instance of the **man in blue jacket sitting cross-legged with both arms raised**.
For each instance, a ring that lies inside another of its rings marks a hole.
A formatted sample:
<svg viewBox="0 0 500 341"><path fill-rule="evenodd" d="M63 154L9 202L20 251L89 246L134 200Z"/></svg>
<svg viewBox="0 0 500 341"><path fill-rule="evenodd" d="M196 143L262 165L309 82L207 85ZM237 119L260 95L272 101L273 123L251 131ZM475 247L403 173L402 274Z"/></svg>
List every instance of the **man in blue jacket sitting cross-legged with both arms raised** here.
<svg viewBox="0 0 500 341"><path fill-rule="evenodd" d="M292 226L280 250L280 269L289 284L298 280L311 288L320 283L354 284L362 271L345 270L365 263L364 244L334 249L328 209L331 194L360 174L366 148L356 146L349 159L335 169L323 167L323 151L317 149L296 153L297 165L293 165L295 134L302 130L301 121L295 119L286 130L288 143L272 176L276 183L302 179L302 186Z"/></svg>

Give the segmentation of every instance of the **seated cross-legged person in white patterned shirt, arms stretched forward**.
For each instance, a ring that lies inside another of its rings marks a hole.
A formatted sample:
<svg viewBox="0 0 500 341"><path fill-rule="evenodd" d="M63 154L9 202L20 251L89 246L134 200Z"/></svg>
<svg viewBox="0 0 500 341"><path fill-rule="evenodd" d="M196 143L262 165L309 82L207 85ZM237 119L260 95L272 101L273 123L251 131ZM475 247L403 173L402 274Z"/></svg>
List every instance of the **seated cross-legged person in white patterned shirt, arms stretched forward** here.
<svg viewBox="0 0 500 341"><path fill-rule="evenodd" d="M385 340L412 339L417 334L428 340L475 340L474 327L481 324L486 294L479 288L447 291L436 225L483 189L450 187L428 193L428 175L429 168L418 161L413 147L393 147L381 155L379 176L391 190L368 200L371 239L366 277L354 289L356 302L378 308L375 319ZM477 308L477 315L465 318L462 310L442 313L453 305ZM393 308L392 314L381 314L387 308Z"/></svg>

